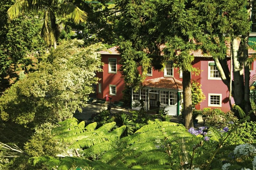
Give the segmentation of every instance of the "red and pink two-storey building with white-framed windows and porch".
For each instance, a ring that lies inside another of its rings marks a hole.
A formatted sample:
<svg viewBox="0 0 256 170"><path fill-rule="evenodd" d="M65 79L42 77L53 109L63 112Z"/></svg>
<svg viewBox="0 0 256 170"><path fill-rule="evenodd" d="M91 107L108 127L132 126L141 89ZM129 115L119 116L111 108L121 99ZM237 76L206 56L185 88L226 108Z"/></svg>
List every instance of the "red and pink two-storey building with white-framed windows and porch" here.
<svg viewBox="0 0 256 170"><path fill-rule="evenodd" d="M249 50L249 54L255 51ZM120 54L116 47L106 51L100 51L103 65L103 72L96 76L101 80L96 88L97 98L112 97L113 101L119 101L123 98L124 81L118 72L120 68ZM227 86L222 82L217 67L211 57L205 57L200 51L193 53L195 60L192 65L198 68L199 75L192 74L191 80L196 80L202 87L206 99L196 109L205 107L220 108L222 111L230 110L229 104L224 103L229 96ZM229 63L230 64L230 63ZM251 65L251 77L255 75L255 61ZM182 73L178 68L173 68L172 62L166 63L163 72L158 72L151 68L148 70L148 77L143 83L143 88L138 92L132 91L132 104L143 99L145 109L156 108L156 102L160 101L161 107L165 106L168 114L179 115L182 105ZM234 103L234 101L233 101ZM132 109L139 109L132 107Z"/></svg>

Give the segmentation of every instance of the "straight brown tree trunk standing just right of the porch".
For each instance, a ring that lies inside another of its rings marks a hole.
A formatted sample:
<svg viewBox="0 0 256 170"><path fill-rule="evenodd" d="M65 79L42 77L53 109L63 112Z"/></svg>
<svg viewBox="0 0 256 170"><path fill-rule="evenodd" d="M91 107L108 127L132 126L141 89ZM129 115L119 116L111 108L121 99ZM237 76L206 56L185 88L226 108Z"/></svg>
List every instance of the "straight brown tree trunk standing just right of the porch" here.
<svg viewBox="0 0 256 170"><path fill-rule="evenodd" d="M191 96L191 74L189 71L182 71L183 76L183 110L185 128L189 129L193 126L192 119L192 96Z"/></svg>

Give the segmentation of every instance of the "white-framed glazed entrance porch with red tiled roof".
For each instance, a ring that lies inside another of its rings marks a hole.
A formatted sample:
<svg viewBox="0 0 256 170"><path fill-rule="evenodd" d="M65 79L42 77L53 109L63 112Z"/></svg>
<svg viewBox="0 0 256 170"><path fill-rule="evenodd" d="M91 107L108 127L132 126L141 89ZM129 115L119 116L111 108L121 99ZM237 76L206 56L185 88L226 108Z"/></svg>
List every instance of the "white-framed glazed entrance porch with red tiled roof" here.
<svg viewBox="0 0 256 170"><path fill-rule="evenodd" d="M156 110L160 101L160 107L165 107L168 115L178 116L182 105L181 94L182 82L175 78L149 79L143 82L139 91L133 92L132 89L132 109L140 110L134 104L142 99L146 111Z"/></svg>

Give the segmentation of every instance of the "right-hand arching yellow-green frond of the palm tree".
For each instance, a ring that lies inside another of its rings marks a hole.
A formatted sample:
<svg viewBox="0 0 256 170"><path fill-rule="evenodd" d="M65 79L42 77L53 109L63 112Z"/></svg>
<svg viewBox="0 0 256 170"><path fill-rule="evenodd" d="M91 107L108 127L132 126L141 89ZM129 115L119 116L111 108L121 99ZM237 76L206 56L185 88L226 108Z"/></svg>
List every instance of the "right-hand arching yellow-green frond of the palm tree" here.
<svg viewBox="0 0 256 170"><path fill-rule="evenodd" d="M72 3L61 3L59 4L59 8L59 15L73 19L75 24L78 24L80 21L84 22L87 19L87 13L80 10L76 5Z"/></svg>

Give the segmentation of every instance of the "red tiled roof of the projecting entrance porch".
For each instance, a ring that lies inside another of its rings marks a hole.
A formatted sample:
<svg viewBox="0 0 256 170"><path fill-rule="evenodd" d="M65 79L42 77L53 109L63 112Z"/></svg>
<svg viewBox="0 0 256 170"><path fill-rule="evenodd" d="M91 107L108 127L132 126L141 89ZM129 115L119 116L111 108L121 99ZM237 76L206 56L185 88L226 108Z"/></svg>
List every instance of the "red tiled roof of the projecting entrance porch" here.
<svg viewBox="0 0 256 170"><path fill-rule="evenodd" d="M143 85L146 87L159 88L159 89L175 89L182 90L182 82L169 77L159 77L155 79L145 80Z"/></svg>

